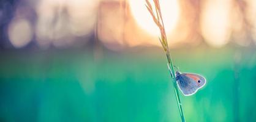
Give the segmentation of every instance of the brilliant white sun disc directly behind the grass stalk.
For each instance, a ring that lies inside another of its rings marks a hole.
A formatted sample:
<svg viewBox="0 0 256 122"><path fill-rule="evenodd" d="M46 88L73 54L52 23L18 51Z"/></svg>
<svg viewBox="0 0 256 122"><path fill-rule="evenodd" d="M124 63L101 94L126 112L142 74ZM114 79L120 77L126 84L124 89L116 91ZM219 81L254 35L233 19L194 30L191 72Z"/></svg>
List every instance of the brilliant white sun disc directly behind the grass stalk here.
<svg viewBox="0 0 256 122"><path fill-rule="evenodd" d="M130 0L129 3L132 15L137 21L137 24L149 34L154 36L159 35L159 29L146 9L145 0ZM168 34L176 26L179 15L179 5L176 0L162 0L160 1L160 6L162 9L165 30Z"/></svg>

